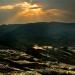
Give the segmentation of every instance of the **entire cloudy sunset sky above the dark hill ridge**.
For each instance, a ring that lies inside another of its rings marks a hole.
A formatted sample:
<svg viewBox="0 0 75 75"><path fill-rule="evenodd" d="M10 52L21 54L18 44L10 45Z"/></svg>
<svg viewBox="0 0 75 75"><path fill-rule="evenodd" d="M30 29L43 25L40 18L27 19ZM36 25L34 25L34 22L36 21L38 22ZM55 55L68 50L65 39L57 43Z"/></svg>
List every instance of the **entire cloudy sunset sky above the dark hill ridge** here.
<svg viewBox="0 0 75 75"><path fill-rule="evenodd" d="M0 24L75 22L75 0L0 0Z"/></svg>

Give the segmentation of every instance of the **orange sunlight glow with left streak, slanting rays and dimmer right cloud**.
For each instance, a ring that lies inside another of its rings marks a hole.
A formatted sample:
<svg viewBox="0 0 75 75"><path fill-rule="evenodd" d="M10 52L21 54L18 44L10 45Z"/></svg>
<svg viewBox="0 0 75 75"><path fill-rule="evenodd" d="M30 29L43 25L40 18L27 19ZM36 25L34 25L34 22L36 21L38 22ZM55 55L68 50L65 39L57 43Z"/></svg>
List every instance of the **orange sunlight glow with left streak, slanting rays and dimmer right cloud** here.
<svg viewBox="0 0 75 75"><path fill-rule="evenodd" d="M44 6L37 3L21 2L13 5L0 6L2 10L12 9L16 10L13 16L8 17L5 23L15 23L17 21L22 21L25 23L29 22L41 22L41 21L52 21L57 18L63 17L64 14L68 13L60 9L44 9ZM11 11L11 10L9 10Z"/></svg>

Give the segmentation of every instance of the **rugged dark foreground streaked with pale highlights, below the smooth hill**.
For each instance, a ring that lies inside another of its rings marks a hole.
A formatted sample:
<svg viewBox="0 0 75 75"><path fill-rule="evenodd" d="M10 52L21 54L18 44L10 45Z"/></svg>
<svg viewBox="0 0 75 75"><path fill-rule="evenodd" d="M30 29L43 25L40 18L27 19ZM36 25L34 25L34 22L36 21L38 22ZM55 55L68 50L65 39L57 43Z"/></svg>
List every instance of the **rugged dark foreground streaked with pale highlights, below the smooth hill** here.
<svg viewBox="0 0 75 75"><path fill-rule="evenodd" d="M73 51L66 51L57 49L58 51L64 53L65 58L73 57ZM65 48L66 49L66 48ZM29 50L29 51L28 51ZM40 50L40 51L39 51ZM50 52L49 52L50 51ZM12 75L75 75L75 65L74 62L58 60L55 58L55 53L58 52L55 48L44 49L34 49L27 48L27 50L0 50L0 72ZM36 55L36 53L38 55ZM61 53L61 54L62 54ZM66 53L66 54L65 54ZM49 55L48 55L49 54ZM54 55L55 57L51 56ZM52 60L53 59L53 60ZM72 64L73 63L73 64Z"/></svg>

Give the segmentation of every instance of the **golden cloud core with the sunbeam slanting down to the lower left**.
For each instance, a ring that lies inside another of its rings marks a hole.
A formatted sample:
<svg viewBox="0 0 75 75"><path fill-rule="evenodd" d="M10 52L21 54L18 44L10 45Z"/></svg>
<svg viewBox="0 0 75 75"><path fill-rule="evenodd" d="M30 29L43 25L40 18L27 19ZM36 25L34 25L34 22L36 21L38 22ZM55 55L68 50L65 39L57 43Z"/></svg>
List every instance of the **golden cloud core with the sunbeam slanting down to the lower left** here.
<svg viewBox="0 0 75 75"><path fill-rule="evenodd" d="M20 12L16 13L13 17L7 19L7 23L14 23L14 21L18 20L21 17L25 17L26 19L33 19L36 17L38 18L39 15L43 13L42 8L39 7L37 4L30 4L28 2L23 2L20 4L16 4L15 6L20 7ZM31 18L30 18L31 17Z"/></svg>

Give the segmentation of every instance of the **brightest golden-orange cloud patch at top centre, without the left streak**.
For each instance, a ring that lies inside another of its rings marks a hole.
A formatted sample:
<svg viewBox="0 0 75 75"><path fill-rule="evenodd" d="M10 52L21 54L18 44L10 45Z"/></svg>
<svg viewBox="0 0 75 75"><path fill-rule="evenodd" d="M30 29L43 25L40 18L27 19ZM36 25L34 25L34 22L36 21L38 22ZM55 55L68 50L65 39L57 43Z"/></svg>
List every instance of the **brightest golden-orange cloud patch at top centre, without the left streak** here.
<svg viewBox="0 0 75 75"><path fill-rule="evenodd" d="M42 6L38 4L23 2L20 4L16 4L16 6L21 8L20 14L23 16L32 16L32 15L39 15L42 12Z"/></svg>

